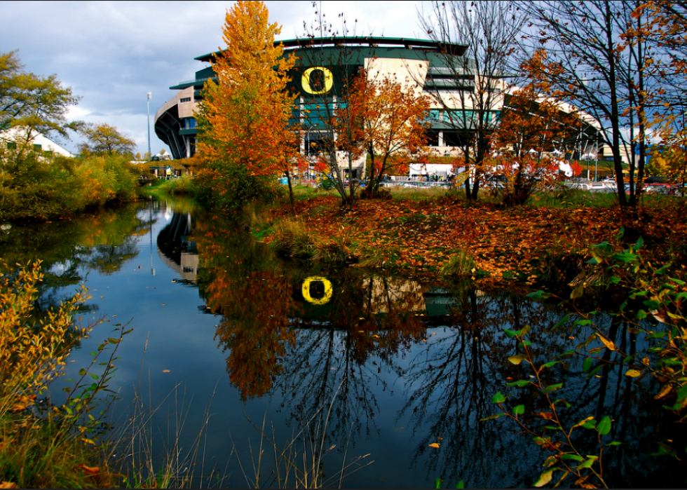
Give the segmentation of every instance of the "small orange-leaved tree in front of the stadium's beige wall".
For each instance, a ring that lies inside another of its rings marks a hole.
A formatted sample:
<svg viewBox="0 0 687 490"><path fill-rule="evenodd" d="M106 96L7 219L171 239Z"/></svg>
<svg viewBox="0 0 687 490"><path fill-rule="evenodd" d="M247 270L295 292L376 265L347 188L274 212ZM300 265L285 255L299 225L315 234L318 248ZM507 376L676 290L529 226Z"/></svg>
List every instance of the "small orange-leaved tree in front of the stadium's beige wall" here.
<svg viewBox="0 0 687 490"><path fill-rule="evenodd" d="M370 158L366 192L379 191L383 175L407 166L427 144L425 118L428 97L416 93L416 84L405 86L392 76L370 79L369 70L361 69L348 88L346 110L337 111L337 125L351 125L341 131L339 142L362 149ZM349 141L348 137L353 136Z"/></svg>

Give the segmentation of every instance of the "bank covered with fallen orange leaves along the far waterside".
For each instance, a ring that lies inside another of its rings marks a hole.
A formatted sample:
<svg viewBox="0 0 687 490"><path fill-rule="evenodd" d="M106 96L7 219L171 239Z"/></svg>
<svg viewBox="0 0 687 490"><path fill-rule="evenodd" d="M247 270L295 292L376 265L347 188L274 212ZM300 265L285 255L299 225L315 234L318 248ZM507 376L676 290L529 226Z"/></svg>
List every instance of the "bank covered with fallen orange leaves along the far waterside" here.
<svg viewBox="0 0 687 490"><path fill-rule="evenodd" d="M391 199L359 200L343 212L331 193L299 195L293 212L284 204L251 220L253 233L287 257L561 284L579 280L592 247L606 240L622 250L642 236L648 259L678 269L687 258L687 207L669 196L621 212L613 195L583 191L508 208L491 198L466 203L444 189L393 189Z"/></svg>

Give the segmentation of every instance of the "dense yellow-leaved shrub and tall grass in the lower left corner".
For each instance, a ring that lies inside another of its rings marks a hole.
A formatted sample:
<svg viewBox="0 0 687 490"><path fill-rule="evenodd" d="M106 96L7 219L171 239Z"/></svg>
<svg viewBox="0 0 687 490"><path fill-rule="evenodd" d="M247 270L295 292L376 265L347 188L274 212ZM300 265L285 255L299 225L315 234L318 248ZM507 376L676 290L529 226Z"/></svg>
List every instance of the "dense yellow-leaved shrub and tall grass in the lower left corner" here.
<svg viewBox="0 0 687 490"><path fill-rule="evenodd" d="M1 270L0 481L20 488L111 486L107 462L94 449L100 425L90 411L109 379L113 359L100 376L90 373L97 381L88 388L77 383L62 406L39 400L64 374L69 350L90 330L74 327L79 304L88 298L86 290L36 322L32 313L36 284L43 278L40 264L17 271L3 265Z"/></svg>

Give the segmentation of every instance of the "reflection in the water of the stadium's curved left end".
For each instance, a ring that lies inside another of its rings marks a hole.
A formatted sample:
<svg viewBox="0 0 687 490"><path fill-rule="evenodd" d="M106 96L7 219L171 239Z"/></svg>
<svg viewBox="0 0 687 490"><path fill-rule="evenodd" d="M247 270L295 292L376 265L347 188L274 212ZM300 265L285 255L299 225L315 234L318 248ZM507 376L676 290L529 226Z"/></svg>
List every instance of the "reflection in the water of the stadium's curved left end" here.
<svg viewBox="0 0 687 490"><path fill-rule="evenodd" d="M190 234L191 215L175 212L170 224L158 233L158 255L183 280L195 281L198 275L198 251L196 243L189 240Z"/></svg>

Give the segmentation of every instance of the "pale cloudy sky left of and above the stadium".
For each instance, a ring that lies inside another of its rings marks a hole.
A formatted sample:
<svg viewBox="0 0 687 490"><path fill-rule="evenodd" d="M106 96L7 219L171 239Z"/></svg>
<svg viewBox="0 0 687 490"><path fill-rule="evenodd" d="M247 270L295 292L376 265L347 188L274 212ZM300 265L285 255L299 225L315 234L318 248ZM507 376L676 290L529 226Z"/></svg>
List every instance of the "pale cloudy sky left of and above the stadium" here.
<svg viewBox="0 0 687 490"><path fill-rule="evenodd" d="M18 50L28 72L56 74L81 97L69 120L114 125L148 150L147 93L151 151L169 151L155 135L156 111L172 96L170 86L195 79L207 64L194 57L223 46L222 26L231 1L0 1L0 53ZM334 29L344 14L349 35L425 39L421 1L266 1L270 22L282 26L278 39L305 35L321 9ZM355 22L357 20L357 22ZM355 32L353 27L355 26ZM55 137L77 151L79 137Z"/></svg>

